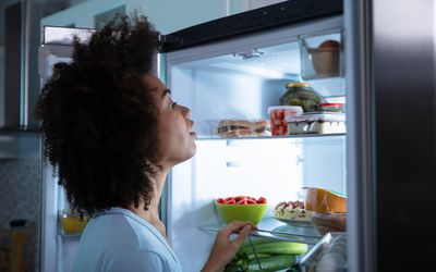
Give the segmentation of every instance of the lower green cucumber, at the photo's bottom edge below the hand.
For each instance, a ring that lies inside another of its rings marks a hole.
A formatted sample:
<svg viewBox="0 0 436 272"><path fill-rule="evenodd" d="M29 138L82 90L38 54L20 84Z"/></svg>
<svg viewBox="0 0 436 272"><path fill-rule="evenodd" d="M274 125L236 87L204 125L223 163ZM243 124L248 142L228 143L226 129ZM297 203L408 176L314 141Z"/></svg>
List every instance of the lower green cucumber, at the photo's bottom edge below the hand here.
<svg viewBox="0 0 436 272"><path fill-rule="evenodd" d="M289 269L295 262L293 255L275 255L266 258L259 258L263 272L275 272L277 270ZM257 260L249 261L249 272L261 271Z"/></svg>

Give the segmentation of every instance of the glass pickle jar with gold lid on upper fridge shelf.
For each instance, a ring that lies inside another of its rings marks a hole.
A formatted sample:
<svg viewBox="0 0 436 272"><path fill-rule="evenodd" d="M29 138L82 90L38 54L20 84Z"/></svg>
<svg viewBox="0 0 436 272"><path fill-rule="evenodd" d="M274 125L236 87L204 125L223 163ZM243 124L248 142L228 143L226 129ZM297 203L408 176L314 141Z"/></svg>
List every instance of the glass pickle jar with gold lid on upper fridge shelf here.
<svg viewBox="0 0 436 272"><path fill-rule="evenodd" d="M319 111L319 104L327 102L307 83L288 83L287 91L280 97L282 106L300 106L303 112Z"/></svg>

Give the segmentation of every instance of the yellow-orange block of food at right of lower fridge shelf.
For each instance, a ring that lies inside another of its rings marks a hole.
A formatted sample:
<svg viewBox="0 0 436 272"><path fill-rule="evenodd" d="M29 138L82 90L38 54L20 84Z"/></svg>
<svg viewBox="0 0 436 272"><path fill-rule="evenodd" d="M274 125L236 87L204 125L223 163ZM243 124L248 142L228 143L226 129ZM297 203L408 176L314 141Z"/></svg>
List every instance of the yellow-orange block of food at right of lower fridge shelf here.
<svg viewBox="0 0 436 272"><path fill-rule="evenodd" d="M323 188L306 188L305 208L316 212L347 212L347 198Z"/></svg>

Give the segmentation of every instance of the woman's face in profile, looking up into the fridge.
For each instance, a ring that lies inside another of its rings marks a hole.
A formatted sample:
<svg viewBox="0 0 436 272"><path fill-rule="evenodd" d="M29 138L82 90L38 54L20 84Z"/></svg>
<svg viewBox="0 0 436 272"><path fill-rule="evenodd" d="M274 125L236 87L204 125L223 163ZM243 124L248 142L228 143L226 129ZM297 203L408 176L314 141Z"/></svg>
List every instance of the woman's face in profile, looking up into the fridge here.
<svg viewBox="0 0 436 272"><path fill-rule="evenodd" d="M159 109L158 133L159 151L162 166L173 166L191 159L195 154L194 122L189 119L191 110L178 104L171 98L170 90L154 75L144 75L148 86L155 91Z"/></svg>

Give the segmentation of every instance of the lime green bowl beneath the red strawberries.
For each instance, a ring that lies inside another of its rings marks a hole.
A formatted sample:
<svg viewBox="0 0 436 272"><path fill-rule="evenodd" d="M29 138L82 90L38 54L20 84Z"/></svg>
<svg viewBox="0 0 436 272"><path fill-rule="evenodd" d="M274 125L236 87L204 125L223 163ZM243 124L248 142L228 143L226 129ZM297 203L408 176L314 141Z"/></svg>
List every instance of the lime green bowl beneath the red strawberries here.
<svg viewBox="0 0 436 272"><path fill-rule="evenodd" d="M257 225L258 222L264 218L267 205L255 203L255 205L225 205L217 203L218 214L226 223L232 221L249 221Z"/></svg>

